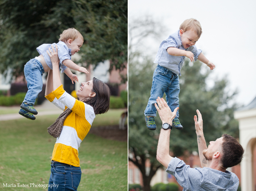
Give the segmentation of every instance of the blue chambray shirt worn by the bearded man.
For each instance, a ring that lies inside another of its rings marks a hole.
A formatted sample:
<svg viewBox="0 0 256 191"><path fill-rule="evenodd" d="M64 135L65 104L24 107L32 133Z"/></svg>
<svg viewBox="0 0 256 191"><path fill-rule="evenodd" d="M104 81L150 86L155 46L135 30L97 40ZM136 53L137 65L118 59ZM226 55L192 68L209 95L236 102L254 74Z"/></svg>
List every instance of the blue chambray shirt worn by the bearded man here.
<svg viewBox="0 0 256 191"><path fill-rule="evenodd" d="M183 191L236 191L239 184L238 177L232 172L207 167L190 168L176 157L170 161L166 172L175 177Z"/></svg>

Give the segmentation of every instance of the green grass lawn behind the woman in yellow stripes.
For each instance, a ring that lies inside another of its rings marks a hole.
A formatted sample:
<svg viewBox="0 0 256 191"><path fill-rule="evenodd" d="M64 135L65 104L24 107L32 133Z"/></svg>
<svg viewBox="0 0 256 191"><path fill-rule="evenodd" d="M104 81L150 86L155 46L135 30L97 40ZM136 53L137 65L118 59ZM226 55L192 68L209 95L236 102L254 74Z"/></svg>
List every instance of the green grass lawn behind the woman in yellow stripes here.
<svg viewBox="0 0 256 191"><path fill-rule="evenodd" d="M47 190L17 186L48 184L56 138L48 134L47 127L57 116L39 116L35 121L25 118L1 121L0 190ZM79 147L82 178L78 190L126 191L127 157L127 142L88 134ZM16 187L3 187L3 183Z"/></svg>

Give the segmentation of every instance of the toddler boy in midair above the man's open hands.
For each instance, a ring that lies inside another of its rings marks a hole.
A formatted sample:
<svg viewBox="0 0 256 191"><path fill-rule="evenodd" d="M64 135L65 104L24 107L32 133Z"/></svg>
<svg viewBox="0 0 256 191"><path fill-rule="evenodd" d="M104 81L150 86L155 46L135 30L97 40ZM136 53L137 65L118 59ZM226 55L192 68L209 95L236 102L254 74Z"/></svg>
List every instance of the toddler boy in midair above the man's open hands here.
<svg viewBox="0 0 256 191"><path fill-rule="evenodd" d="M215 68L195 46L196 42L202 34L202 28L196 19L186 19L181 25L180 29L171 34L165 39L158 49L154 63L157 67L153 74L152 88L148 105L145 109L145 120L148 129L155 130L156 108L155 103L158 96L162 97L166 94L166 101L168 106L173 111L179 107L179 76L180 70L186 60L186 57L192 61L200 60L205 63L210 70ZM172 126L176 129L183 129L179 119L179 110L173 119Z"/></svg>

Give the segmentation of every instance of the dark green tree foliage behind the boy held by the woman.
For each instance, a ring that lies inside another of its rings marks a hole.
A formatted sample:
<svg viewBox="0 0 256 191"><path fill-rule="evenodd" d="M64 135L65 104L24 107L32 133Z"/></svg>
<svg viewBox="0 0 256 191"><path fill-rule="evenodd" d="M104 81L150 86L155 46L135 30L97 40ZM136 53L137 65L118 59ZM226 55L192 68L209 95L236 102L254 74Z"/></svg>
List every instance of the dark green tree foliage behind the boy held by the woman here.
<svg viewBox="0 0 256 191"><path fill-rule="evenodd" d="M76 28L84 37L80 62L97 65L110 60L113 68L127 62L127 0L1 0L1 73L23 73L36 47L58 42L59 34Z"/></svg>

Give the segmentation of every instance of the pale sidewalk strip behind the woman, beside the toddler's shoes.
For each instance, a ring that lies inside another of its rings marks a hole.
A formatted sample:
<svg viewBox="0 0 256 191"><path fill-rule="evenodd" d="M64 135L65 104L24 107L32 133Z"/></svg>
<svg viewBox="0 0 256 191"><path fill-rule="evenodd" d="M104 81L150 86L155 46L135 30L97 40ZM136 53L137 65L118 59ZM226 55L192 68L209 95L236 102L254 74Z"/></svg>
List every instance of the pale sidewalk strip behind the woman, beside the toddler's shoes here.
<svg viewBox="0 0 256 191"><path fill-rule="evenodd" d="M54 104L52 104L50 101L46 100L41 105L36 105L36 110L38 111L37 116L42 115L54 115L54 114L61 114L63 111L56 107ZM11 106L11 107L4 107L0 106L0 110L5 109L17 109L17 113L11 113L11 114L1 114L0 115L0 121L6 121L6 120L13 120L13 119L20 119L24 118L22 115L20 115L18 112L20 110L20 106Z"/></svg>

